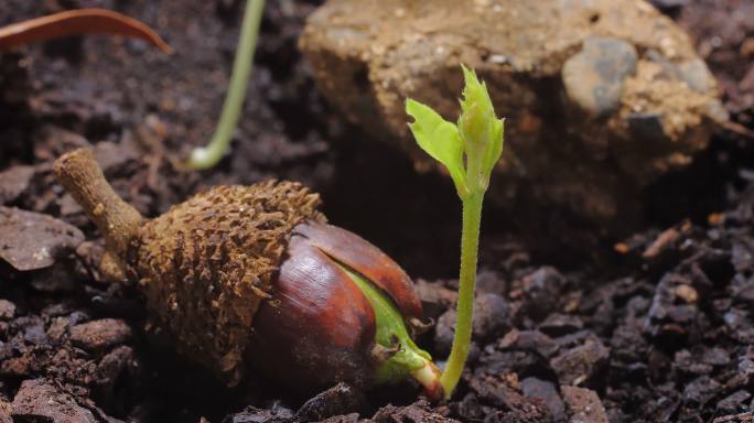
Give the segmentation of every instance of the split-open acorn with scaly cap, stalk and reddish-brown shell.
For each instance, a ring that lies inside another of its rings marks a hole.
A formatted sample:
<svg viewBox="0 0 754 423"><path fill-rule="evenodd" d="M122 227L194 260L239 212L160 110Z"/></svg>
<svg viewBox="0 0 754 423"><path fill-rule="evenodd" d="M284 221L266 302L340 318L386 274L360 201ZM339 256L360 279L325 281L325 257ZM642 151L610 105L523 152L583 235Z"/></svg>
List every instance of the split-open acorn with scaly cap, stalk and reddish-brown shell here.
<svg viewBox="0 0 754 423"><path fill-rule="evenodd" d="M228 386L256 368L291 390L413 378L442 397L440 370L412 340L422 307L411 280L327 225L301 184L215 186L144 219L89 150L54 170L105 237L103 273L137 284L151 325Z"/></svg>

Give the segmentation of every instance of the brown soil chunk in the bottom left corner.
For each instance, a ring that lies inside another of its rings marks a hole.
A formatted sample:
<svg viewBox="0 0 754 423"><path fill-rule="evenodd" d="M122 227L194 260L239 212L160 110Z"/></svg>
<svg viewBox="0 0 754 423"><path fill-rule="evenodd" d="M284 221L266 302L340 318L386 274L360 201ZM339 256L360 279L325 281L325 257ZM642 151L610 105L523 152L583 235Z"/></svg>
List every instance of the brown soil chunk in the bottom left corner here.
<svg viewBox="0 0 754 423"><path fill-rule="evenodd" d="M13 399L13 420L55 423L97 423L94 414L44 379L24 380Z"/></svg>

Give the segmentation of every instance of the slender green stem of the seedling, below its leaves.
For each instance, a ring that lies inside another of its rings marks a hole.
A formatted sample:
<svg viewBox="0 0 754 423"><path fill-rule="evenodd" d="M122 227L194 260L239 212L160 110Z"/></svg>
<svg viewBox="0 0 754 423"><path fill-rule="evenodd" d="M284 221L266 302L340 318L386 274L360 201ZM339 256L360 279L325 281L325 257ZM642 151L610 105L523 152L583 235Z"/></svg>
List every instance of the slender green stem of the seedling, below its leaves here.
<svg viewBox="0 0 754 423"><path fill-rule="evenodd" d="M463 198L463 227L461 230L461 275L459 285L459 317L448 364L440 378L445 398L450 398L461 379L471 348L474 318L474 285L476 284L476 257L480 247L480 223L484 192L472 193Z"/></svg>

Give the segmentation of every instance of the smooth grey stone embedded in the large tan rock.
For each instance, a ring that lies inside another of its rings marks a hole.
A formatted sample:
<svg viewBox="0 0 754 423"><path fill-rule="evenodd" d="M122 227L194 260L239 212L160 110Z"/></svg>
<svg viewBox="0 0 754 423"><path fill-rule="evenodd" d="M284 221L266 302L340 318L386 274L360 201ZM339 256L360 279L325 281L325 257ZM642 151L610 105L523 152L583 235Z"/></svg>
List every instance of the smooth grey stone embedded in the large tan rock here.
<svg viewBox="0 0 754 423"><path fill-rule="evenodd" d="M623 82L636 72L636 48L625 41L589 36L561 70L568 98L593 116L621 106Z"/></svg>

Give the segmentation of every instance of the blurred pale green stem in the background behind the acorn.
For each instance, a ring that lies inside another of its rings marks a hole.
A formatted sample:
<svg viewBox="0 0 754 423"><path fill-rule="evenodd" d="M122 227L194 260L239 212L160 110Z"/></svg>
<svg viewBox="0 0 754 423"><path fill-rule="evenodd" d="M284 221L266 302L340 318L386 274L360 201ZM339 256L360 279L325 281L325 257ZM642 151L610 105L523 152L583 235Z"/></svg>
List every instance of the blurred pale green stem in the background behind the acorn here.
<svg viewBox="0 0 754 423"><path fill-rule="evenodd" d="M236 130L244 107L244 97L251 75L254 51L257 46L263 9L265 0L248 0L246 2L244 22L241 23L236 58L233 63L233 74L230 74L230 84L223 104L223 111L209 144L198 147L191 152L187 165L192 169L213 167L228 150L230 138L233 138L233 132Z"/></svg>

